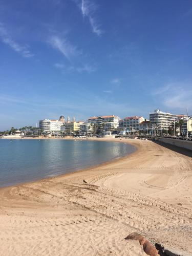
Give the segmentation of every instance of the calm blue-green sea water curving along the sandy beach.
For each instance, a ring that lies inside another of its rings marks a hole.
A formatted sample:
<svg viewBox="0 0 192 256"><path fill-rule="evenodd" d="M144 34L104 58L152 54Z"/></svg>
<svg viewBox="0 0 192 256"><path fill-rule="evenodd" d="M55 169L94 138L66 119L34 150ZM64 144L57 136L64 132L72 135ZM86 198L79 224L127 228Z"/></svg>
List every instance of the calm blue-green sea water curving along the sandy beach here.
<svg viewBox="0 0 192 256"><path fill-rule="evenodd" d="M104 141L0 139L0 186L74 172L134 151Z"/></svg>

